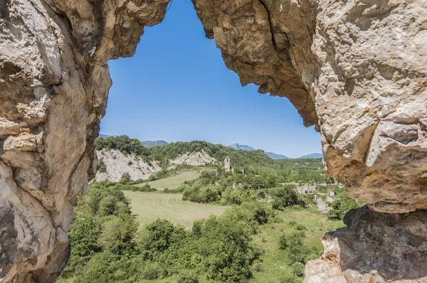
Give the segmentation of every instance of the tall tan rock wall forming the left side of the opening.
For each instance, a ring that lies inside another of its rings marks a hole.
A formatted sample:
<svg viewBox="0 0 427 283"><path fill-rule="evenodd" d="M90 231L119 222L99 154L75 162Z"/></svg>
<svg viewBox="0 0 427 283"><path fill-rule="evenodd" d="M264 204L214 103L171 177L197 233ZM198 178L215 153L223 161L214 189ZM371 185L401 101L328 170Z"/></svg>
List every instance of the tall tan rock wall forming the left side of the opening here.
<svg viewBox="0 0 427 283"><path fill-rule="evenodd" d="M51 282L75 196L95 176L107 60L135 52L168 0L0 3L0 282Z"/></svg>

